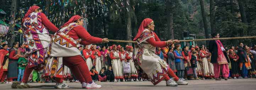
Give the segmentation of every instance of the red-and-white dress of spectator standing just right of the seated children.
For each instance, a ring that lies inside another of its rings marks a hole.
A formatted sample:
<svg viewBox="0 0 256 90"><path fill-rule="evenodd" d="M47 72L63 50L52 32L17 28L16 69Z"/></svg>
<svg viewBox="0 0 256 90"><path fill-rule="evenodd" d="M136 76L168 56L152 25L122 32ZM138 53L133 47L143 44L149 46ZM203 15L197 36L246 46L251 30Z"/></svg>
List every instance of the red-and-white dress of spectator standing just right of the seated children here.
<svg viewBox="0 0 256 90"><path fill-rule="evenodd" d="M114 46L113 46L114 47ZM116 57L121 57L119 56L119 51L112 50L110 52L110 58L111 63L112 63L112 69L113 73L115 75L115 79L123 79L123 73L122 73L122 64L120 59L116 59Z"/></svg>

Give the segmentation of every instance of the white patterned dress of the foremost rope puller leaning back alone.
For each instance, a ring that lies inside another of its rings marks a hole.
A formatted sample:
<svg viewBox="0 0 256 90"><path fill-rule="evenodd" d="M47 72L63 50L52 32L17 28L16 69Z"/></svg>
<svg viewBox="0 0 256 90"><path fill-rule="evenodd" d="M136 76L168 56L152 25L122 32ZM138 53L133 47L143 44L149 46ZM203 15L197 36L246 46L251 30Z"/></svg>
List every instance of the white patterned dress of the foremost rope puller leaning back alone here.
<svg viewBox="0 0 256 90"><path fill-rule="evenodd" d="M150 38L155 39L155 37L154 32L149 31L148 29L143 30L140 37L136 40L139 46L135 48L134 53L136 55L134 57L136 59L135 63L143 69L154 85L164 79L169 68L167 63L155 54L156 47L148 44L146 41Z"/></svg>

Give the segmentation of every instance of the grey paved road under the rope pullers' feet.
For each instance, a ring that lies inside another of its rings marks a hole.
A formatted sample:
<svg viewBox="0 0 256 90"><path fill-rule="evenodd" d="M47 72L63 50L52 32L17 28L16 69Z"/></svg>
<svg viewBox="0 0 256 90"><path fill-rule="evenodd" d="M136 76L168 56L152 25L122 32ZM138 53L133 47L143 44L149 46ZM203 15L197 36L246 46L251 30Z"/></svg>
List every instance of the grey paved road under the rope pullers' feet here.
<svg viewBox="0 0 256 90"><path fill-rule="evenodd" d="M102 85L101 89L94 90L256 90L256 79L229 79L228 81L215 80L192 80L187 81L189 85L179 85L176 87L165 86L165 81L157 85L151 82L97 82ZM42 83L30 83L30 85L41 85ZM45 83L44 83L45 84ZM47 83L54 85L55 83ZM69 90L81 90L80 83L67 83ZM47 90L53 87L32 88L24 90ZM11 84L0 84L0 90L12 90ZM18 90L18 89L16 89ZM58 89L60 90L60 89Z"/></svg>

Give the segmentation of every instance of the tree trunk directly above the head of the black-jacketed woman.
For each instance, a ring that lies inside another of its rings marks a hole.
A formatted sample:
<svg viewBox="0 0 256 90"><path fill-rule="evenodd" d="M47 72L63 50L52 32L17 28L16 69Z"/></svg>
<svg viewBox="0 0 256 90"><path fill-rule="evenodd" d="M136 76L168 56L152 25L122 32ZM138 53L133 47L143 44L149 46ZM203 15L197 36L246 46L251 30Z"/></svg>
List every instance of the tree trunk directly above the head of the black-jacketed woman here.
<svg viewBox="0 0 256 90"><path fill-rule="evenodd" d="M214 0L210 0L211 33L216 32Z"/></svg>

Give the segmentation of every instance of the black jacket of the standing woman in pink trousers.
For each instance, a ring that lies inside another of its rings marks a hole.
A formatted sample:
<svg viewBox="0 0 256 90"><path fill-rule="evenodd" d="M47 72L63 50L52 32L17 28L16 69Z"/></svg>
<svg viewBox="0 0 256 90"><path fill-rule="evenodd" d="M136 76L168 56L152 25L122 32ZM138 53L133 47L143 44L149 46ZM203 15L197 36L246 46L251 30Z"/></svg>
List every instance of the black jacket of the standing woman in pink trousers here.
<svg viewBox="0 0 256 90"><path fill-rule="evenodd" d="M218 57L218 46L216 44L216 41L215 40L211 40L209 42L209 51L210 53L212 53L212 56L211 56L211 63L218 63L217 62L217 57Z"/></svg>

